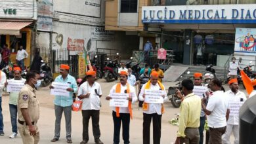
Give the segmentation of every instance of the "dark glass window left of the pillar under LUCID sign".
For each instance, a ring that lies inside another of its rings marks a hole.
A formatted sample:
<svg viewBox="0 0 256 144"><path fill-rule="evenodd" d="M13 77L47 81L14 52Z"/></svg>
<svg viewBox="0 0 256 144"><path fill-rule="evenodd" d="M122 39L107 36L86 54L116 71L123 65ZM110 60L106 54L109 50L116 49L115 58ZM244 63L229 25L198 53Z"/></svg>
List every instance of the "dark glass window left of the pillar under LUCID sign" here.
<svg viewBox="0 0 256 144"><path fill-rule="evenodd" d="M183 31L163 31L162 47L173 50L174 63L183 63L184 37Z"/></svg>

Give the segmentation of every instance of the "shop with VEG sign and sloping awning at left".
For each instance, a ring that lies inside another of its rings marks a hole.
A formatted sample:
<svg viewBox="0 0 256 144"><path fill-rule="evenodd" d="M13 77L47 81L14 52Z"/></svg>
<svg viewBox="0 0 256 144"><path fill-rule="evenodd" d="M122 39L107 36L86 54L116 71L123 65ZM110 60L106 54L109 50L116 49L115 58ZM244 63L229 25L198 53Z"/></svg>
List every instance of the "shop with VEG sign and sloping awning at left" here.
<svg viewBox="0 0 256 144"><path fill-rule="evenodd" d="M35 46L37 1L1 0L0 5L0 47L7 44L11 50L11 61L16 63L16 52L20 46L28 54ZM30 65L30 56L25 60L26 66Z"/></svg>

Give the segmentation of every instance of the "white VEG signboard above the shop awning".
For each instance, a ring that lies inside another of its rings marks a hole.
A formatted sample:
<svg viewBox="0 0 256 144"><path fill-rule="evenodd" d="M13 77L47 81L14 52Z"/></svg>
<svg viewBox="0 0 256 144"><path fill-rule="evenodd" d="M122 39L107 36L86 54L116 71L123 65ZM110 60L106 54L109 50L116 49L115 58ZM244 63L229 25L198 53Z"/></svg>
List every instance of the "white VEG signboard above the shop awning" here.
<svg viewBox="0 0 256 144"><path fill-rule="evenodd" d="M0 0L0 18L36 18L35 1Z"/></svg>

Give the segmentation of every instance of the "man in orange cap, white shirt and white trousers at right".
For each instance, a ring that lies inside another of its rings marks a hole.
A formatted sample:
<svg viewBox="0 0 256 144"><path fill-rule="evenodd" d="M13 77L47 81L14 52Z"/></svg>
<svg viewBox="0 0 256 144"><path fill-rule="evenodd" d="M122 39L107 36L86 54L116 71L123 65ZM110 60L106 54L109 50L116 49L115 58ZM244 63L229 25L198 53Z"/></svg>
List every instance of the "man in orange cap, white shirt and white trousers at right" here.
<svg viewBox="0 0 256 144"><path fill-rule="evenodd" d="M231 79L229 82L230 90L225 92L230 105L230 115L226 124L226 133L223 135L223 144L230 143L230 135L234 134L234 144L239 143L239 109L244 104L246 96L244 92L238 90L238 80Z"/></svg>

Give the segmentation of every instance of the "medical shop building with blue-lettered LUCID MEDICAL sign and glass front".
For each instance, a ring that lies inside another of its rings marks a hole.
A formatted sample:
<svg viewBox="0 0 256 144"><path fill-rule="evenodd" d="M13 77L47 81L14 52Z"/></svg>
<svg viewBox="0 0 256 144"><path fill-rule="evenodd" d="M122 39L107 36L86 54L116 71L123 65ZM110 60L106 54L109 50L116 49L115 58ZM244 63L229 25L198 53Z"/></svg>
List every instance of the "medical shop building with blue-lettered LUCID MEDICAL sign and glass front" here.
<svg viewBox="0 0 256 144"><path fill-rule="evenodd" d="M152 1L155 6L142 7L141 18L145 29L161 33L160 45L174 51L175 63L224 67L234 53L247 59L247 54L234 50L235 35L238 29L256 26L255 3Z"/></svg>

